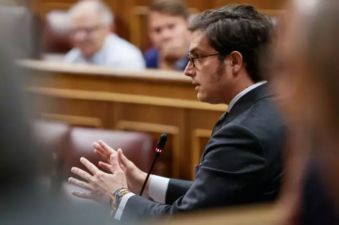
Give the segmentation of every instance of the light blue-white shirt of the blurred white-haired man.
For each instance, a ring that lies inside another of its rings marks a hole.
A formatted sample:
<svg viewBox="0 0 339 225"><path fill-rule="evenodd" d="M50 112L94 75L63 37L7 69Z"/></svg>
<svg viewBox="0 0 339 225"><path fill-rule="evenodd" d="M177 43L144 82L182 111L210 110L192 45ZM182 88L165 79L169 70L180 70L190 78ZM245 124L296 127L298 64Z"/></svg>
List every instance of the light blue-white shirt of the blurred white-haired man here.
<svg viewBox="0 0 339 225"><path fill-rule="evenodd" d="M101 50L96 52L90 60L86 59L79 49L74 48L65 55L63 61L72 64L96 64L123 69L145 68L145 60L140 49L112 33L107 35Z"/></svg>

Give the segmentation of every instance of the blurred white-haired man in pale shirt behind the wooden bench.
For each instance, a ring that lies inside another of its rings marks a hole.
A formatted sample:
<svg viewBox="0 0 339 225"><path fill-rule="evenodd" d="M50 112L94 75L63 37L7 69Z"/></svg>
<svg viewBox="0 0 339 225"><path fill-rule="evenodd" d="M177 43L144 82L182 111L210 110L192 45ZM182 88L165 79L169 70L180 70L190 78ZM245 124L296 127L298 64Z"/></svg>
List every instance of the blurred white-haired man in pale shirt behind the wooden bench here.
<svg viewBox="0 0 339 225"><path fill-rule="evenodd" d="M74 46L66 63L96 64L114 68L144 69L141 51L111 32L114 15L100 0L82 0L68 12Z"/></svg>

